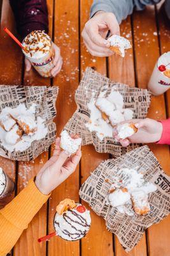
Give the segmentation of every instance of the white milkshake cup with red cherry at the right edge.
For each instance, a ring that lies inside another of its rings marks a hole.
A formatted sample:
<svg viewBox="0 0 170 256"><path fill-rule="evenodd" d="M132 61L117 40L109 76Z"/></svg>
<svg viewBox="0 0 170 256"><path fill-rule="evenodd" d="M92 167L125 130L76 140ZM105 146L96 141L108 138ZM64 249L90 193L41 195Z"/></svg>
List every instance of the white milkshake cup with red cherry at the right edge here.
<svg viewBox="0 0 170 256"><path fill-rule="evenodd" d="M148 89L154 95L160 95L170 88L170 52L162 54L152 72Z"/></svg>

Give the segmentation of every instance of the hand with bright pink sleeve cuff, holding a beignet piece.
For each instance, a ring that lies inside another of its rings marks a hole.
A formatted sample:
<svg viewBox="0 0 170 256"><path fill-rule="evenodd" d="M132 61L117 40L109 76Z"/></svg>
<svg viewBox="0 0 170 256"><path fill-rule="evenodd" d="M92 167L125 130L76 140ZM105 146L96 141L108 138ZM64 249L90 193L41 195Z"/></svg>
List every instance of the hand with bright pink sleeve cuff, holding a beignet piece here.
<svg viewBox="0 0 170 256"><path fill-rule="evenodd" d="M134 133L131 137L120 139L117 134L117 129L113 132L113 137L127 147L130 143L153 143L160 140L162 136L162 124L156 120L146 119L132 119L124 123L132 123L138 128L138 132Z"/></svg>

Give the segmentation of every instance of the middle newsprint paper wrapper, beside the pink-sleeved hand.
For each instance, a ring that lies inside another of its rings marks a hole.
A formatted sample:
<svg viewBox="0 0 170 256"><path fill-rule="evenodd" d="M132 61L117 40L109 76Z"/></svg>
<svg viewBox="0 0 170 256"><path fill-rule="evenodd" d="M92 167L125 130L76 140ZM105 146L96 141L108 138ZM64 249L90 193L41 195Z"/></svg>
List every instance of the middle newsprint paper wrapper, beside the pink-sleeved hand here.
<svg viewBox="0 0 170 256"><path fill-rule="evenodd" d="M119 157L133 148L139 147L139 144L122 147L113 137L105 137L101 141L96 132L90 132L85 126L90 118L90 110L87 104L92 98L97 99L102 91L106 91L106 95L108 95L112 88L115 88L123 95L125 108L131 108L134 111L133 118L146 118L151 97L148 90L131 88L125 84L115 83L92 68L87 68L75 94L78 108L64 129L73 134L79 134L82 138L82 145L93 144L97 152L110 153L114 157Z"/></svg>

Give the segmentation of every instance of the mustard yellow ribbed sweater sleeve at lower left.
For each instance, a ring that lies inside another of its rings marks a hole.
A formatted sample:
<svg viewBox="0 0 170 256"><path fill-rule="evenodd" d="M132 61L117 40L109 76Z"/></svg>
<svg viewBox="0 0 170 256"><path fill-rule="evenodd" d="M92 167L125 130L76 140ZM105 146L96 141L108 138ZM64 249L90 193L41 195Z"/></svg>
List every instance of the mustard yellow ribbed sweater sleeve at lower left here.
<svg viewBox="0 0 170 256"><path fill-rule="evenodd" d="M0 256L6 255L17 243L23 230L50 195L43 195L30 180L11 202L0 211Z"/></svg>

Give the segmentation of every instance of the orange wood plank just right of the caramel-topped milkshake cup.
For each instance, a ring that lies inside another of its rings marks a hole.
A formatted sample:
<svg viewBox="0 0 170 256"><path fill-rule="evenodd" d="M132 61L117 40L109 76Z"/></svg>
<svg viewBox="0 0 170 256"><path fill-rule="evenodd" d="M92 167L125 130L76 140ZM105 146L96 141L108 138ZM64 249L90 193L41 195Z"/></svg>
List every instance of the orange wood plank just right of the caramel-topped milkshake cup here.
<svg viewBox="0 0 170 256"><path fill-rule="evenodd" d="M53 79L53 85L59 85L57 100L57 134L73 115L76 104L74 90L78 86L78 6L79 1L55 0L54 42L59 45L64 59L62 72ZM79 201L79 167L65 182L52 193L49 204L48 232L53 232L53 216L55 207L64 198ZM59 237L53 237L48 242L48 255L80 255L80 242L67 242Z"/></svg>

